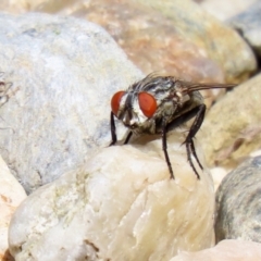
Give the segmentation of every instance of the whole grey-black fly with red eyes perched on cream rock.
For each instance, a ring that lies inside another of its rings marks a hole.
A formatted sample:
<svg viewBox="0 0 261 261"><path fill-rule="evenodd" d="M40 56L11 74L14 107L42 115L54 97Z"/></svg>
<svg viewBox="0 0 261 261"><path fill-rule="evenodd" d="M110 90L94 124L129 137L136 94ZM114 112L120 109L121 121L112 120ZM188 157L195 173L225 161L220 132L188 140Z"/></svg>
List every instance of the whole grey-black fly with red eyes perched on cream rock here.
<svg viewBox="0 0 261 261"><path fill-rule="evenodd" d="M192 140L206 113L206 104L199 90L235 86L234 84L195 84L176 79L173 76L149 74L129 86L127 90L117 91L112 97L112 141L110 146L117 141L114 116L129 129L124 145L129 141L133 134L161 134L162 150L171 178L174 178L167 153L166 133L195 117L183 144L186 145L187 160L197 178L200 179L191 160L192 154L200 169L203 170Z"/></svg>

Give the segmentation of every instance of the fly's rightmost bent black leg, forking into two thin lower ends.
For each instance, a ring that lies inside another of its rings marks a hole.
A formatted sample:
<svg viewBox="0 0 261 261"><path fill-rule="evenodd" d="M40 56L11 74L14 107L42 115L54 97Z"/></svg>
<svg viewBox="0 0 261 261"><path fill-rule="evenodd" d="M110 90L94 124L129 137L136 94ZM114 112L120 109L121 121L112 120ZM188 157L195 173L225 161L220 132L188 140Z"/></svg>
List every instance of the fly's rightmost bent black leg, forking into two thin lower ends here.
<svg viewBox="0 0 261 261"><path fill-rule="evenodd" d="M195 146L194 146L194 140L192 138L195 137L195 135L197 134L197 132L199 130L202 122L203 122L203 119L204 119L204 112L206 112L206 105L204 104L200 104L198 105L197 108L195 108L194 110L196 110L196 117L195 117L195 121L188 132L188 135L184 141L184 144L186 144L186 149L187 149L187 157L188 157L188 162L190 164L190 166L192 167L195 174L197 175L198 179L200 179L200 176L192 163L192 160L191 160L191 153L192 156L195 157L196 161L198 162L199 166L201 170L203 170L198 157L197 157L197 153L196 153L196 150L195 150Z"/></svg>

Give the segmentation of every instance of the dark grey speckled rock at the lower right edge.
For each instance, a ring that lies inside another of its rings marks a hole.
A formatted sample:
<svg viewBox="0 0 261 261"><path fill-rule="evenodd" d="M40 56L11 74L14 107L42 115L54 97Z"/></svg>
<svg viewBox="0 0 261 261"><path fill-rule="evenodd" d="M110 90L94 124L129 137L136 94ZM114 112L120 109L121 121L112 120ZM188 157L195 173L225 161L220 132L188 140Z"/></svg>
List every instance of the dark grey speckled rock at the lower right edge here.
<svg viewBox="0 0 261 261"><path fill-rule="evenodd" d="M261 243L261 157L245 161L227 174L216 192L216 241Z"/></svg>

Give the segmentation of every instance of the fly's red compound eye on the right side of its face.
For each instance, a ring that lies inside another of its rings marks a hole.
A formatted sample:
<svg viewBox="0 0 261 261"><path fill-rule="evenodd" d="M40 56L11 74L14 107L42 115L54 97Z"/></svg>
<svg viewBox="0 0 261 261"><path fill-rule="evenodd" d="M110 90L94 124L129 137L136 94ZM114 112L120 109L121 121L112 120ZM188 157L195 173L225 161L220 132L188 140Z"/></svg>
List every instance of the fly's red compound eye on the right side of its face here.
<svg viewBox="0 0 261 261"><path fill-rule="evenodd" d="M147 117L153 116L157 110L157 102L152 95L148 92L138 94L139 108Z"/></svg>

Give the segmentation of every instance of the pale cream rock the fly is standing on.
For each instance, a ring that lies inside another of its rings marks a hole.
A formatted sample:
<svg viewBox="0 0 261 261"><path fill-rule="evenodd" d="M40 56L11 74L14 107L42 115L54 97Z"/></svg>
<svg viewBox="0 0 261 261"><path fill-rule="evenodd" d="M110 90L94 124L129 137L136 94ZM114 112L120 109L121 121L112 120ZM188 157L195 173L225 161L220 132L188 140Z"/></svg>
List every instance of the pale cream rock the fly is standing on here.
<svg viewBox="0 0 261 261"><path fill-rule="evenodd" d="M213 184L207 171L197 179L183 133L167 139L176 179L161 139L141 141L101 149L84 167L33 192L10 225L15 260L158 261L211 247Z"/></svg>

